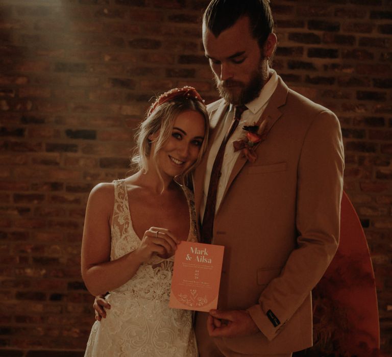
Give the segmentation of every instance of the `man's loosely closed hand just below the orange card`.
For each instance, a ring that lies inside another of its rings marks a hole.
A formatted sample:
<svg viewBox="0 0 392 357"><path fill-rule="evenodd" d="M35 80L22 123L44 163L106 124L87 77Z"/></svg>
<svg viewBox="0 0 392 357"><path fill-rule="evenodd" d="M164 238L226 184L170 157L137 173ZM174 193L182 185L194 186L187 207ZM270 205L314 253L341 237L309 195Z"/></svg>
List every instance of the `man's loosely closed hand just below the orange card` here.
<svg viewBox="0 0 392 357"><path fill-rule="evenodd" d="M207 330L212 337L248 336L260 332L246 310L210 310Z"/></svg>

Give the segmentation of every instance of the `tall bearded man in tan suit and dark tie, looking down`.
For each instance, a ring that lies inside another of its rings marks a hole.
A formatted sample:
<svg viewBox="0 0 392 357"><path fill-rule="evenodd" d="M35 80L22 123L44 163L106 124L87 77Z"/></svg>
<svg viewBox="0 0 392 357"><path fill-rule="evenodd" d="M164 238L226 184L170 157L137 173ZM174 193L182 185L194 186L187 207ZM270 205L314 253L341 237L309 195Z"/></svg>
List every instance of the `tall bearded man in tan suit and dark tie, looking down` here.
<svg viewBox="0 0 392 357"><path fill-rule="evenodd" d="M290 356L312 345L310 293L338 244L339 122L269 68L267 0L212 0L203 43L221 99L195 207L202 241L225 258L219 310L197 314L200 356Z"/></svg>

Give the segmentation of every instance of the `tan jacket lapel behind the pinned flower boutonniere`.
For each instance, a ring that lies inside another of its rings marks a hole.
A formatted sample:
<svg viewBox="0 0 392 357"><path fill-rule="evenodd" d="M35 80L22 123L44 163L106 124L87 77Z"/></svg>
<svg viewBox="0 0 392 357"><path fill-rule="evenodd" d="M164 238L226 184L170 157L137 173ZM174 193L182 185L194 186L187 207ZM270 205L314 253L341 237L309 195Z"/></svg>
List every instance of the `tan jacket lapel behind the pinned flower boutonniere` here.
<svg viewBox="0 0 392 357"><path fill-rule="evenodd" d="M278 76L278 86L276 87L273 95L269 99L269 102L267 104L267 107L264 109L263 114L260 116L259 120L257 121L257 125L260 125L263 120L266 120L266 125L265 125L265 131L267 134L268 138L268 132L272 129L276 121L280 118L282 115L282 111L279 109L280 107L284 106L286 103L286 98L287 98L287 92L288 88L282 81L282 79ZM231 143L230 143L231 144ZM228 143L229 145L229 143ZM262 142L258 143L255 150L258 149L258 147L262 147ZM260 151L260 149L259 149ZM238 156L237 161L234 164L233 170L231 171L231 174L229 176L229 181L226 185L225 192L222 196L222 200L220 201L220 206L222 205L223 200L225 199L226 193L231 186L233 180L235 177L238 175L242 167L247 163L248 159L245 157L242 157L240 154ZM219 209L218 209L219 211Z"/></svg>

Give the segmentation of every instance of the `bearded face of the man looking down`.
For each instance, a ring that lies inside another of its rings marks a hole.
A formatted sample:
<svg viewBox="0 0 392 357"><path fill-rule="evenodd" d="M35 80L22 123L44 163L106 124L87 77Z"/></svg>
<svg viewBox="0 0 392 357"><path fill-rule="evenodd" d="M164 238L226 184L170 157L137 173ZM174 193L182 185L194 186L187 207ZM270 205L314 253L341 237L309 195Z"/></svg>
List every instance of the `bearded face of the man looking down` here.
<svg viewBox="0 0 392 357"><path fill-rule="evenodd" d="M221 97L238 105L259 95L268 79L268 66L247 16L218 37L203 23L203 44Z"/></svg>

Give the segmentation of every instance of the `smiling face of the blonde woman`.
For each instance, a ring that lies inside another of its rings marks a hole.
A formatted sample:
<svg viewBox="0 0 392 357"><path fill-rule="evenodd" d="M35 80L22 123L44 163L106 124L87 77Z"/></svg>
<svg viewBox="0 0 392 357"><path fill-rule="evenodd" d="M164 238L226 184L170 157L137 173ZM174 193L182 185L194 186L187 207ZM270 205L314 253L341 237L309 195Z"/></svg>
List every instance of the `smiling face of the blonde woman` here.
<svg viewBox="0 0 392 357"><path fill-rule="evenodd" d="M194 110L180 113L174 121L171 135L157 152L160 172L175 177L193 165L199 157L204 134L205 120L201 113ZM154 133L152 139L158 136L159 132Z"/></svg>

